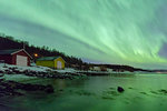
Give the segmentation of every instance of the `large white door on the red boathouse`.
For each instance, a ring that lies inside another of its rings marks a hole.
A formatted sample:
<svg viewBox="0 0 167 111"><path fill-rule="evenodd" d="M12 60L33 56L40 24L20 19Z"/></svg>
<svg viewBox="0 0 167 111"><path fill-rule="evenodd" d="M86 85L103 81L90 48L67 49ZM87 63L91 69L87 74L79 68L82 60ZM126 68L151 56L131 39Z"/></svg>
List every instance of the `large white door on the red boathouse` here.
<svg viewBox="0 0 167 111"><path fill-rule="evenodd" d="M28 65L28 58L23 56L17 56L17 65Z"/></svg>

